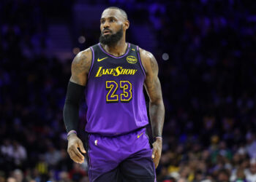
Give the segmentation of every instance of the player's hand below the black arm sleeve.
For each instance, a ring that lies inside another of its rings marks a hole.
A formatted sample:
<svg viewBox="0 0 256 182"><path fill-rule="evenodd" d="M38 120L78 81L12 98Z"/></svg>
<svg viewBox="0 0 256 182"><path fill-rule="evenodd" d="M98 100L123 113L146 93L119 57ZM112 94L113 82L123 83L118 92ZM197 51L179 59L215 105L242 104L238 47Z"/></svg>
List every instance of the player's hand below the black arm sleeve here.
<svg viewBox="0 0 256 182"><path fill-rule="evenodd" d="M69 153L69 157L74 162L82 164L84 161L83 154L86 154L86 150L83 147L82 141L80 140L80 138L78 138L78 136L75 133L72 133L71 135L69 135L67 140L68 140L67 153ZM83 154L81 154L78 148Z"/></svg>

